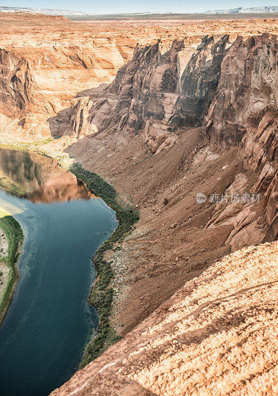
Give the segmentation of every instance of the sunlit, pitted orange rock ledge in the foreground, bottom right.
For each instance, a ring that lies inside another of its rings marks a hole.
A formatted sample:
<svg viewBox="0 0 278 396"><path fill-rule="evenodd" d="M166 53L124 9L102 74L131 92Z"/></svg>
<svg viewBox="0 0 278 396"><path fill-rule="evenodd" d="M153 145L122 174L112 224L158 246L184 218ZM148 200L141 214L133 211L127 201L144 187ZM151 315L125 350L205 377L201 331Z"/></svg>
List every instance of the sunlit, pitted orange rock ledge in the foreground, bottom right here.
<svg viewBox="0 0 278 396"><path fill-rule="evenodd" d="M278 243L245 247L51 395L278 395L277 301Z"/></svg>

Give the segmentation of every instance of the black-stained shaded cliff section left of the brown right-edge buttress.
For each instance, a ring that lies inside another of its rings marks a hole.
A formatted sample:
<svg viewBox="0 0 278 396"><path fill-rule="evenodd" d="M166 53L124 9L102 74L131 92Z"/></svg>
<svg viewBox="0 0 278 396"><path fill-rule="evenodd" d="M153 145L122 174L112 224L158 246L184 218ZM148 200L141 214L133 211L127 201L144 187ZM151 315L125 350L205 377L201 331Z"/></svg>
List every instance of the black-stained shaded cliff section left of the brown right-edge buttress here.
<svg viewBox="0 0 278 396"><path fill-rule="evenodd" d="M153 153L172 146L179 127L201 124L230 45L229 36L224 35L137 46L133 59L120 68L109 86L110 99L88 102L88 134L126 127L131 134L144 133ZM79 137L72 125L66 134Z"/></svg>

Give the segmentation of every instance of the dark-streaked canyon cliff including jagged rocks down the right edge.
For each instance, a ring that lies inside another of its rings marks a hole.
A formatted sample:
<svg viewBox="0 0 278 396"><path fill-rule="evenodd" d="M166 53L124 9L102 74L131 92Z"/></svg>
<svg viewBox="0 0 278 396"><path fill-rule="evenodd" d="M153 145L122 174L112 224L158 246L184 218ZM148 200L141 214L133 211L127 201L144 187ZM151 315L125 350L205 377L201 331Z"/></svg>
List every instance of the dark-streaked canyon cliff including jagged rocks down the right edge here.
<svg viewBox="0 0 278 396"><path fill-rule="evenodd" d="M277 92L277 36L235 41L229 35L206 36L196 48L192 40L158 41L135 49L106 97L78 100L65 135L79 138L125 129L140 135L152 153L159 153L177 142L181 129L203 123L212 146L225 150L239 145L248 167L258 173L252 193L267 195L270 224L277 213ZM243 224L249 226L247 219L254 208L247 206L226 209L239 216L240 229ZM218 208L218 214L223 209ZM217 217L215 213L208 226L220 224ZM275 224L269 241L278 233Z"/></svg>

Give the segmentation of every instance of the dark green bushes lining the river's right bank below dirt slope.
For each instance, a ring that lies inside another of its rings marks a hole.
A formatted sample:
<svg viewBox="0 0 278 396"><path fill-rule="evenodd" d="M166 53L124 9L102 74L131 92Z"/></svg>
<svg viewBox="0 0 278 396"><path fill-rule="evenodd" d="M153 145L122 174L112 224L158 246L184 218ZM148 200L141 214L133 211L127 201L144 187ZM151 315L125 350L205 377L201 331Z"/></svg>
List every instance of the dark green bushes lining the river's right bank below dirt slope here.
<svg viewBox="0 0 278 396"><path fill-rule="evenodd" d="M96 173L90 172L79 163L74 163L69 170L79 179L86 183L89 190L102 198L108 206L116 212L119 221L118 227L107 241L95 252L93 264L97 272L97 281L93 287L89 303L93 305L99 314L98 332L84 353L80 368L86 366L92 360L101 355L110 345L120 340L114 328L110 325L114 290L111 285L114 273L111 261L104 259L107 250L113 248L116 242L122 242L125 235L131 231L132 226L139 220L139 211L126 203L121 203L117 191Z"/></svg>

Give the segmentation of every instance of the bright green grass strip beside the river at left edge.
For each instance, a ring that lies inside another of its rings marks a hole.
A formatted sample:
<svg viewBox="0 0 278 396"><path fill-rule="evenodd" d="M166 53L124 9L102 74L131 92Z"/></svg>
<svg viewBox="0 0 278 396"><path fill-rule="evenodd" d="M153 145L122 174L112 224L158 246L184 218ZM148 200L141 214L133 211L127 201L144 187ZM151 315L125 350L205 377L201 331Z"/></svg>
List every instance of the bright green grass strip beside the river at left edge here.
<svg viewBox="0 0 278 396"><path fill-rule="evenodd" d="M9 279L5 292L0 300L0 325L7 313L19 278L16 266L23 243L23 231L19 223L4 209L0 208L0 227L6 235L8 242L7 256L1 257L1 262L10 268Z"/></svg>

